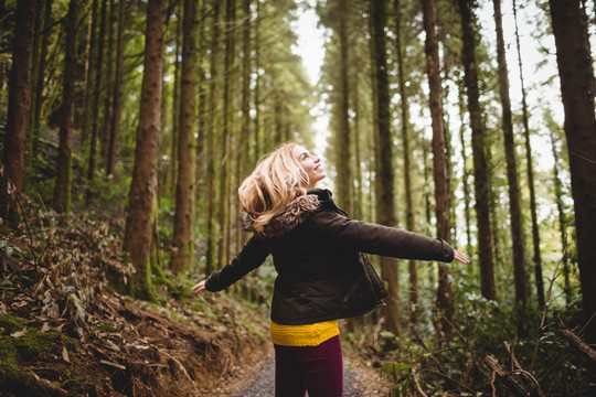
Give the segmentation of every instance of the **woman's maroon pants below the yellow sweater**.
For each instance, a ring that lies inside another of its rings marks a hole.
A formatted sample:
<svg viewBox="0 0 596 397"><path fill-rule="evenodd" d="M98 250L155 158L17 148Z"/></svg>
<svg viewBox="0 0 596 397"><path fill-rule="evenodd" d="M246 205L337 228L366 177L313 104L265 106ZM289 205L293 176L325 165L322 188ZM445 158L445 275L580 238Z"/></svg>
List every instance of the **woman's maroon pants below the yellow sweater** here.
<svg viewBox="0 0 596 397"><path fill-rule="evenodd" d="M318 346L275 347L275 396L341 397L343 363L341 342L333 336Z"/></svg>

